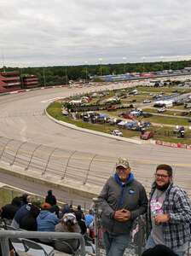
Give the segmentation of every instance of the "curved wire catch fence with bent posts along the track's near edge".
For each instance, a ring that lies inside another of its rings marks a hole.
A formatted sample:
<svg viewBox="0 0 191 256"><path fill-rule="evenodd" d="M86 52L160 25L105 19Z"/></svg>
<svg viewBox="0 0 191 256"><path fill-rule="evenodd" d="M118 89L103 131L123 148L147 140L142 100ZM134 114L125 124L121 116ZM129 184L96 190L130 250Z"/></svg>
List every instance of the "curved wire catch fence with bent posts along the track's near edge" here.
<svg viewBox="0 0 191 256"><path fill-rule="evenodd" d="M65 145L65 148L67 146ZM160 150L158 148L157 150ZM155 154L158 152L155 150ZM151 153L152 154L152 153ZM174 155L166 154L162 162L173 162ZM184 153L177 155L182 161L180 165L173 166L176 183L191 196L191 172L190 165L184 165ZM153 182L153 172L160 162L147 159L139 159L135 155L130 158L130 166L138 179L147 190ZM0 163L5 162L9 166L20 166L22 173L34 174L34 177L44 177L51 181L71 181L79 185L90 185L100 188L114 172L117 157L101 154L90 154L77 150L52 148L43 144L20 142L14 139L0 137ZM37 175L38 174L38 175ZM78 186L77 186L78 187Z"/></svg>

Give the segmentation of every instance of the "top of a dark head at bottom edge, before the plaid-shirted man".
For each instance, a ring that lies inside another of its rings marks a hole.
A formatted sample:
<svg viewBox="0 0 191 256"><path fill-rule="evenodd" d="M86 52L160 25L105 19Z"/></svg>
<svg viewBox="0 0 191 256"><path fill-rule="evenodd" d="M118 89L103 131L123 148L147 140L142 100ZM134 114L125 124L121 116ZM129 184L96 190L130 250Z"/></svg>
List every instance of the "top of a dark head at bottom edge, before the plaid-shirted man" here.
<svg viewBox="0 0 191 256"><path fill-rule="evenodd" d="M177 253L174 253L171 251L169 247L166 247L165 245L158 244L153 248L149 248L144 253L142 253L142 256L178 256Z"/></svg>

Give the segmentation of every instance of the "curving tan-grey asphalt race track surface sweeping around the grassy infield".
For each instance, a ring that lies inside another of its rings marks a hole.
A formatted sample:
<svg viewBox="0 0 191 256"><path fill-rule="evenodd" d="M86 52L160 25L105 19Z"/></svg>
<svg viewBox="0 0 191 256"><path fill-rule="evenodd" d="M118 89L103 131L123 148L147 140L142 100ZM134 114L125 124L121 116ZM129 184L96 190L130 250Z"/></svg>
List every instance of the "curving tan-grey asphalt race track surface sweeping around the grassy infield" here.
<svg viewBox="0 0 191 256"><path fill-rule="evenodd" d="M110 89L118 86L110 85ZM55 124L44 114L44 108L55 98L90 90L101 90L101 87L52 88L0 96L0 137L88 154L126 157L130 160L132 172L148 188L155 167L161 163L170 164L175 170L176 183L191 195L191 150L153 144L137 145L100 137Z"/></svg>

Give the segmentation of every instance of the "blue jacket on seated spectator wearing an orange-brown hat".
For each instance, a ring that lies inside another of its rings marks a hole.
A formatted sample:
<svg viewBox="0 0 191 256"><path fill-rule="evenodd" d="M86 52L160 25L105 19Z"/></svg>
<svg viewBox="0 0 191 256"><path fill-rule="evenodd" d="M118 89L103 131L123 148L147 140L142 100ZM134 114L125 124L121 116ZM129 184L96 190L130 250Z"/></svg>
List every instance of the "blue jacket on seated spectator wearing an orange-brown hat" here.
<svg viewBox="0 0 191 256"><path fill-rule="evenodd" d="M38 231L55 231L55 225L59 223L59 218L55 213L43 210L39 213L38 218Z"/></svg>

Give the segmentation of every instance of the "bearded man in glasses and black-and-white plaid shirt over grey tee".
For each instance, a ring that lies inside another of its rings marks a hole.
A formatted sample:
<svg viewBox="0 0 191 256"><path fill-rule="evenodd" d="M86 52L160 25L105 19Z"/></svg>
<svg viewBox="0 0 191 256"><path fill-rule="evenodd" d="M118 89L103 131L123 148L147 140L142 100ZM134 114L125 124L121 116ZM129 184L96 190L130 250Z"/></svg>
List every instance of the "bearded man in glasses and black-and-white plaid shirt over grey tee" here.
<svg viewBox="0 0 191 256"><path fill-rule="evenodd" d="M191 203L186 192L172 183L171 166L157 166L148 216L151 233L146 248L163 244L184 255L190 239Z"/></svg>

